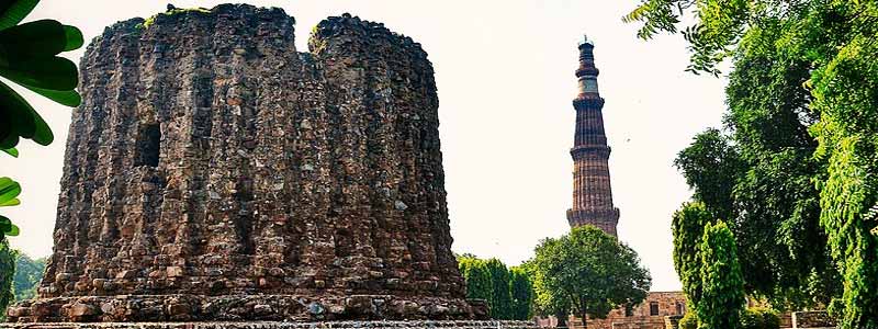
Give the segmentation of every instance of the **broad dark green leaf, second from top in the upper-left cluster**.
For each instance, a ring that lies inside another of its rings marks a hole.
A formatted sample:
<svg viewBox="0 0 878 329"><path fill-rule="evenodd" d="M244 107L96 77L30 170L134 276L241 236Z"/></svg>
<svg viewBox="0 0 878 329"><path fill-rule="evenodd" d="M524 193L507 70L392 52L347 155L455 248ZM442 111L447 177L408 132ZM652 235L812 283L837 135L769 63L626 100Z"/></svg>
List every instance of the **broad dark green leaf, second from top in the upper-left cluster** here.
<svg viewBox="0 0 878 329"><path fill-rule="evenodd" d="M67 47L67 29L54 20L27 22L0 31L0 45L5 50L2 56L10 61L10 66L15 67L11 63L58 55ZM72 31L70 33L75 34ZM70 37L76 38L76 35Z"/></svg>

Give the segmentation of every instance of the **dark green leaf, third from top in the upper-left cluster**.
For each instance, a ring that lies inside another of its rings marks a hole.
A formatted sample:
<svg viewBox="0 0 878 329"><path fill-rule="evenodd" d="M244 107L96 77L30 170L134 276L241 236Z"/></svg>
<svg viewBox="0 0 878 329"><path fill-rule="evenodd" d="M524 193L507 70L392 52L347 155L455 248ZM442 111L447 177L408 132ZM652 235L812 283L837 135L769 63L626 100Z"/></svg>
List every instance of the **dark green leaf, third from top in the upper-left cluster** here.
<svg viewBox="0 0 878 329"><path fill-rule="evenodd" d="M0 76L22 86L50 90L74 90L79 83L76 65L67 58L32 58L0 66Z"/></svg>

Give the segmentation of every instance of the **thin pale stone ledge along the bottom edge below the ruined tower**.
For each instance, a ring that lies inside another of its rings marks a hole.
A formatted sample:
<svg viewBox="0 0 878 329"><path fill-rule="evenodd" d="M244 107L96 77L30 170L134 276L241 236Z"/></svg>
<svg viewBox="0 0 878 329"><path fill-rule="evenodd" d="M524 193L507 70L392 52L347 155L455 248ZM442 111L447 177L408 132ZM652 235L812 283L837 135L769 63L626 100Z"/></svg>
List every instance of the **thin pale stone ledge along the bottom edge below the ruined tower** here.
<svg viewBox="0 0 878 329"><path fill-rule="evenodd" d="M0 329L536 329L531 321L344 321L344 322L94 322L0 324Z"/></svg>

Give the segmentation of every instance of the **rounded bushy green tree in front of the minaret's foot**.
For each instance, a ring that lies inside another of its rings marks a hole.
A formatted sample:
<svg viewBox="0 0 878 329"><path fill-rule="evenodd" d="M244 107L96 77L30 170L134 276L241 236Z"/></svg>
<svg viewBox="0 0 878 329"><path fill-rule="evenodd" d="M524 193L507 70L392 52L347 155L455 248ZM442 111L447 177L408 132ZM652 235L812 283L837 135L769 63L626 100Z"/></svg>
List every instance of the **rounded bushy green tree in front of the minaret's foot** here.
<svg viewBox="0 0 878 329"><path fill-rule="evenodd" d="M652 282L637 252L590 225L544 239L532 265L539 273L539 308L555 315L570 310L583 319L606 318L620 305L640 304Z"/></svg>

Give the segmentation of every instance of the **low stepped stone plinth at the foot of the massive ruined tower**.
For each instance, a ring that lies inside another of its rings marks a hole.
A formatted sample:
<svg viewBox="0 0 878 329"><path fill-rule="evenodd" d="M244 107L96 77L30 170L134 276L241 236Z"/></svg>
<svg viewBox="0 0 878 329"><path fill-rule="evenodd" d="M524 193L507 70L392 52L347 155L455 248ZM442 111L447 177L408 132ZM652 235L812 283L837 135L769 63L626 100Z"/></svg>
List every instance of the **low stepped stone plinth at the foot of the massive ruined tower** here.
<svg viewBox="0 0 878 329"><path fill-rule="evenodd" d="M339 321L487 319L483 300L391 295L120 295L25 300L8 310L10 322ZM40 325L46 326L46 325ZM85 326L85 325L82 325ZM99 325L90 325L99 326ZM100 325L103 326L103 325ZM226 328L226 327L121 328ZM199 325L201 326L201 325ZM293 325L290 325L293 326ZM295 325L300 326L300 325ZM0 327L3 328L3 327ZM24 328L24 327L21 327ZM54 327L27 327L54 328ZM60 327L98 328L98 327ZM114 327L102 327L114 328ZM250 328L250 327L227 327ZM254 327L300 328L300 327ZM303 327L304 328L304 327ZM308 327L311 328L311 327ZM319 327L315 327L319 328ZM329 327L327 327L329 328ZM331 327L348 328L348 327ZM353 327L351 327L353 328Z"/></svg>

